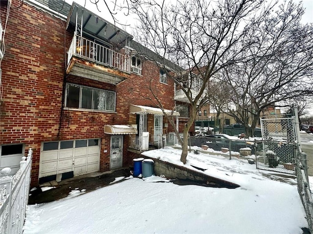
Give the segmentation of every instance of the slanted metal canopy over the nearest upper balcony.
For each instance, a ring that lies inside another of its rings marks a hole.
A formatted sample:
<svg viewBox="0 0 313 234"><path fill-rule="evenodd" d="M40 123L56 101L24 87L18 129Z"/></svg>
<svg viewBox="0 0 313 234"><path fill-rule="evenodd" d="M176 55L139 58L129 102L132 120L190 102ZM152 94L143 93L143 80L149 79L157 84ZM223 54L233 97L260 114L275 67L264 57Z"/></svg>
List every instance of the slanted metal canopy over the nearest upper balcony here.
<svg viewBox="0 0 313 234"><path fill-rule="evenodd" d="M73 2L67 16L67 28L69 25L76 27L76 13L78 23L81 24L80 29L96 38L110 41L121 47L125 45L127 39L133 39L132 35L95 15L83 6L78 5L76 2Z"/></svg>

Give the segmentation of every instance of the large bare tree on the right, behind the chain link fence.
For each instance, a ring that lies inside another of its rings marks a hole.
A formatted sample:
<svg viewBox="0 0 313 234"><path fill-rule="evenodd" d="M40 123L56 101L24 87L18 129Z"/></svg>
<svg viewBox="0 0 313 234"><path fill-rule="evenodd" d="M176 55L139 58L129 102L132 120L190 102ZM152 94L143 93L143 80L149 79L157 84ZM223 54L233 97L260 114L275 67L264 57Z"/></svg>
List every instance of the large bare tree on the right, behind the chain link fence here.
<svg viewBox="0 0 313 234"><path fill-rule="evenodd" d="M221 72L233 89L236 110L230 115L245 125L247 134L248 124L253 134L268 106L313 95L313 25L302 25L302 14L302 7L290 1L260 18L248 36L247 59Z"/></svg>

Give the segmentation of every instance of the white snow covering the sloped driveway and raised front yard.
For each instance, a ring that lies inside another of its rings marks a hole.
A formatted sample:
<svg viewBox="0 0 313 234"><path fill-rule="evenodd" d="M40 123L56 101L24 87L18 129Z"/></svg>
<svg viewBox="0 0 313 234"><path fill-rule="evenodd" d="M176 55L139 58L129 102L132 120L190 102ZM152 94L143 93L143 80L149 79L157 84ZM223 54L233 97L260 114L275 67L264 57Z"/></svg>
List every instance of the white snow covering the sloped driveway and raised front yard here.
<svg viewBox="0 0 313 234"><path fill-rule="evenodd" d="M144 155L192 170L197 169L191 165L205 168L204 173L241 187L182 186L159 176L119 177L116 181L124 181L90 193L79 188L67 198L29 205L23 234L302 234L301 228L308 226L295 179L282 182L279 174L262 171L264 176L255 165L201 153L189 153L183 165L180 152L166 147Z"/></svg>

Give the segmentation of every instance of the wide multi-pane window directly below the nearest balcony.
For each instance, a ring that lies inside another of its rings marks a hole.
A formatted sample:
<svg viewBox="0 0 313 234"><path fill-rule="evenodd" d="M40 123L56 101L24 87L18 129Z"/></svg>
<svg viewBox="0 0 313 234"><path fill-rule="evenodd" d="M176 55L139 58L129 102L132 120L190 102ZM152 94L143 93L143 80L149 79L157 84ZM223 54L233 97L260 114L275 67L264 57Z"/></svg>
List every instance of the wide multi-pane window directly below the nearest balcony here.
<svg viewBox="0 0 313 234"><path fill-rule="evenodd" d="M115 111L115 92L67 83L66 107Z"/></svg>

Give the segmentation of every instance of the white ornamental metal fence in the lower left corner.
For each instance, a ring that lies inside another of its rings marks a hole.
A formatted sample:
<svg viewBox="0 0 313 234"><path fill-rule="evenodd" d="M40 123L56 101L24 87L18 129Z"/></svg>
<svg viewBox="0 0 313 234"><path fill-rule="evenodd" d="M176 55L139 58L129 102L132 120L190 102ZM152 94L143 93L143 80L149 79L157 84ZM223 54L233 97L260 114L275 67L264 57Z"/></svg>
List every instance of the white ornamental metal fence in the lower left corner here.
<svg viewBox="0 0 313 234"><path fill-rule="evenodd" d="M0 234L22 234L28 203L33 151L22 157L20 170L8 176L11 169L1 170L0 177Z"/></svg>

